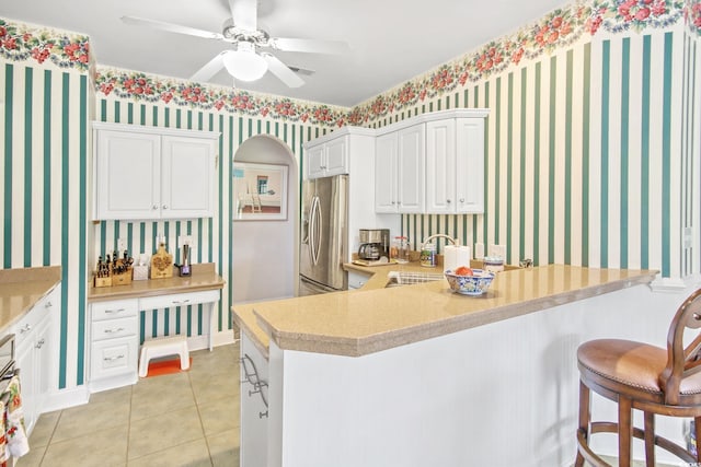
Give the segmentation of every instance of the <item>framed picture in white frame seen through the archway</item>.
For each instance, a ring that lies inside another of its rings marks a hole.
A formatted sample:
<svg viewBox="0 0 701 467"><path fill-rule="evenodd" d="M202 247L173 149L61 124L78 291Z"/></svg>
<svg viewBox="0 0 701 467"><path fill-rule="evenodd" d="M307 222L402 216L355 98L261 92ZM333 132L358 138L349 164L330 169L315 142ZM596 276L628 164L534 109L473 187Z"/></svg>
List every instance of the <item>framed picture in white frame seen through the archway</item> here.
<svg viewBox="0 0 701 467"><path fill-rule="evenodd" d="M287 219L287 165L233 163L233 220Z"/></svg>

